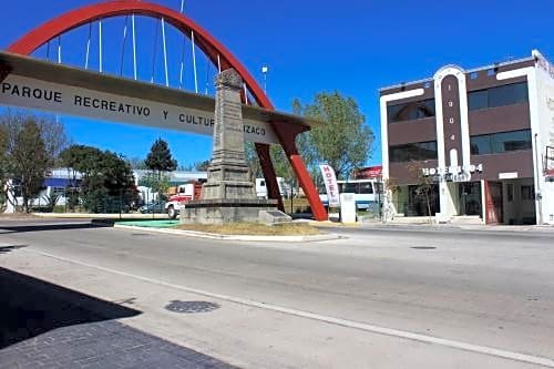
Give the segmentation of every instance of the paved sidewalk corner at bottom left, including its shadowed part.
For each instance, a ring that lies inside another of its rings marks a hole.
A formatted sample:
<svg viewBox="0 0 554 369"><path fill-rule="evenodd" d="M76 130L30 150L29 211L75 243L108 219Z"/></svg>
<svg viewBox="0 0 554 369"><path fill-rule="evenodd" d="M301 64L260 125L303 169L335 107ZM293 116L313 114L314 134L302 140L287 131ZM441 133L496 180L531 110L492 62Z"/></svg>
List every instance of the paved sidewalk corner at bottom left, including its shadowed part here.
<svg viewBox="0 0 554 369"><path fill-rule="evenodd" d="M0 268L0 368L233 368L115 320L131 307L13 270Z"/></svg>

